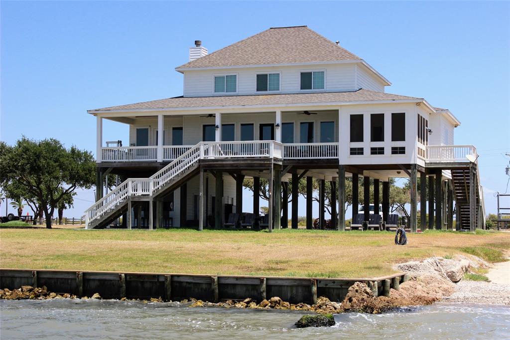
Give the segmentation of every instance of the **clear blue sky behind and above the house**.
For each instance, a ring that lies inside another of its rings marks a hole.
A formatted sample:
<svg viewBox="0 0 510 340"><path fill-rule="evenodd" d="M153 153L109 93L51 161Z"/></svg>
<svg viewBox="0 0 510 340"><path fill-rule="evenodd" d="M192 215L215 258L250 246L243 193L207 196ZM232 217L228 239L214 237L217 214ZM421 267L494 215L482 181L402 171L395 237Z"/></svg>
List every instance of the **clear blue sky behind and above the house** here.
<svg viewBox="0 0 510 340"><path fill-rule="evenodd" d="M7 143L54 137L95 152L86 110L182 95L174 68L194 40L211 53L270 27L307 25L389 79L386 92L425 98L461 120L454 142L478 150L488 212L496 191L510 192L509 2L2 1L0 11ZM123 124L107 120L103 130L105 140L127 140ZM80 190L64 215L81 216L93 199L93 189ZM251 209L248 192L244 201Z"/></svg>

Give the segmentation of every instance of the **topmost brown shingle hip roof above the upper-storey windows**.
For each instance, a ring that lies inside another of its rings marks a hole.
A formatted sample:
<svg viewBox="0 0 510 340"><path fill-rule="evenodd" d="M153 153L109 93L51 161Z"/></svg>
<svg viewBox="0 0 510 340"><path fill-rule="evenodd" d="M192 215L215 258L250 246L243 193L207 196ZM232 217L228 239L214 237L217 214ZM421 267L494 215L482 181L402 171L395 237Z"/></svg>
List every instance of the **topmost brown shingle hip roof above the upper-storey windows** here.
<svg viewBox="0 0 510 340"><path fill-rule="evenodd" d="M179 68L360 60L306 26L270 28Z"/></svg>

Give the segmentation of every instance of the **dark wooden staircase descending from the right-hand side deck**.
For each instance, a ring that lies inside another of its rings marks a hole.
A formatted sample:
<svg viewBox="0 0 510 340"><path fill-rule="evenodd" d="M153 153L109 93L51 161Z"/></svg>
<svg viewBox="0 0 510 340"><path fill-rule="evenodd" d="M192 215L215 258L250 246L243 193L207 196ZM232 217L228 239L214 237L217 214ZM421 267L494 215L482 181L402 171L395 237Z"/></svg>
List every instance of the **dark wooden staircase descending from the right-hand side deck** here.
<svg viewBox="0 0 510 340"><path fill-rule="evenodd" d="M457 225L457 230L474 231L479 227L480 192L477 183L477 171L478 169L474 168L472 170L471 167L451 169L453 191L459 215L456 220L457 223L460 221L460 228ZM473 185L474 192L471 192L471 185ZM475 211L472 214L473 207ZM471 220L473 220L473 225Z"/></svg>

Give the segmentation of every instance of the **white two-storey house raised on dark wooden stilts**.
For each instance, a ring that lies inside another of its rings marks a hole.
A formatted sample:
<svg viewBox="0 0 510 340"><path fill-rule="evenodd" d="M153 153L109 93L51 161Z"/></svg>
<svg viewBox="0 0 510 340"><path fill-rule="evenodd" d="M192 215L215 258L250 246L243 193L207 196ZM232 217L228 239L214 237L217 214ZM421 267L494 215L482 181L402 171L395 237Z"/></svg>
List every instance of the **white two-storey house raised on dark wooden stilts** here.
<svg viewBox="0 0 510 340"><path fill-rule="evenodd" d="M373 203L378 214L381 203L384 221L389 179L409 177L413 231L427 225L451 228L453 201L457 229L483 227L476 149L454 145L458 119L423 98L387 93L391 83L338 41L306 26L270 28L211 54L197 40L189 62L175 70L184 76L182 96L88 111L97 120L99 171L87 228L109 226L121 215L128 229L223 227L229 216L243 212L245 178L253 178L256 190L261 178L269 180L273 217L266 223L269 230L287 227L282 196L287 197L289 182L306 177L307 227L313 223L316 178L321 188L331 182L333 224L344 230L345 178L354 180L357 202L360 176L365 190L374 179L374 202L365 195L364 206ZM105 146L104 119L125 124L129 142ZM104 195L101 183L108 174L127 180ZM422 218L420 226L418 176L420 201L428 201L420 205L422 216L428 208L428 221ZM297 185L292 187L297 202ZM255 195L256 217L259 208ZM352 209L353 215L358 212L356 205ZM292 204L292 228L297 217ZM365 210L367 223L368 218Z"/></svg>

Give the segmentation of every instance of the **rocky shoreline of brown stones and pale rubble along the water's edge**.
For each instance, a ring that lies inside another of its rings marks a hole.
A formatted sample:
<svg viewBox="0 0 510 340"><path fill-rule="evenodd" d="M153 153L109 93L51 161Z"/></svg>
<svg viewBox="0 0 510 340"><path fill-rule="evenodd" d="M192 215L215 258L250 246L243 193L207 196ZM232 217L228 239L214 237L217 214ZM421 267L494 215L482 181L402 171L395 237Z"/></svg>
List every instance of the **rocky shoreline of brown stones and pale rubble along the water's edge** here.
<svg viewBox="0 0 510 340"><path fill-rule="evenodd" d="M390 296L375 297L372 290L362 282L356 282L348 289L342 302L329 301L325 297L317 299L313 305L291 304L279 297L272 297L260 303L247 298L244 301L227 300L212 303L196 299L183 300L190 307L223 307L249 309L284 309L310 311L319 314L343 312L381 313L398 307L429 305L434 302L470 302L510 305L510 285L463 280L470 270L488 268L489 263L476 256L456 256L455 259L432 257L422 261L410 261L395 265L395 269L410 274L409 281L400 284L399 290L390 289ZM48 292L46 287L22 286L19 289L0 289L0 299L4 300L48 300L77 299L71 294ZM89 299L82 297L82 299ZM94 294L90 299L101 299ZM126 300L125 298L121 300ZM137 300L140 301L140 300ZM161 298L141 300L142 302L163 302Z"/></svg>

